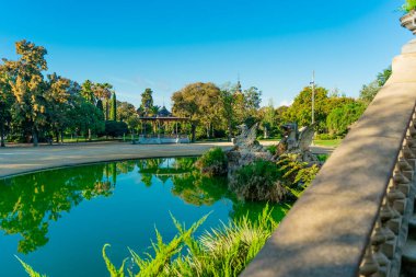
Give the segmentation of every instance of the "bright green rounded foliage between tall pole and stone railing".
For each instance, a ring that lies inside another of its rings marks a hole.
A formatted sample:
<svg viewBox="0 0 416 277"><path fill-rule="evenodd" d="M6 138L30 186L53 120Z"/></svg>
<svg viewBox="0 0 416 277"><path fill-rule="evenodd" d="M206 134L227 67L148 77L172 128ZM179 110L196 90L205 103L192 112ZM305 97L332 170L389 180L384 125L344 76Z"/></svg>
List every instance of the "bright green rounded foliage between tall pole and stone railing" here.
<svg viewBox="0 0 416 277"><path fill-rule="evenodd" d="M330 134L344 136L348 127L358 120L366 111L366 105L360 102L346 104L342 107L334 108L326 118L326 126Z"/></svg>

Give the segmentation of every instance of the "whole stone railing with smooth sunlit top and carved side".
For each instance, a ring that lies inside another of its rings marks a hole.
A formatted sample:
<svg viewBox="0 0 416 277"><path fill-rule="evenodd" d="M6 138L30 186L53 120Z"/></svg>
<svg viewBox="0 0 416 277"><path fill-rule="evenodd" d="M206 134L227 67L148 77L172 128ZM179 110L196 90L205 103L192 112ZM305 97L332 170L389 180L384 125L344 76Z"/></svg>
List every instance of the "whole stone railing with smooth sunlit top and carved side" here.
<svg viewBox="0 0 416 277"><path fill-rule="evenodd" d="M416 41L392 68L388 83L242 276L400 275L415 200Z"/></svg>

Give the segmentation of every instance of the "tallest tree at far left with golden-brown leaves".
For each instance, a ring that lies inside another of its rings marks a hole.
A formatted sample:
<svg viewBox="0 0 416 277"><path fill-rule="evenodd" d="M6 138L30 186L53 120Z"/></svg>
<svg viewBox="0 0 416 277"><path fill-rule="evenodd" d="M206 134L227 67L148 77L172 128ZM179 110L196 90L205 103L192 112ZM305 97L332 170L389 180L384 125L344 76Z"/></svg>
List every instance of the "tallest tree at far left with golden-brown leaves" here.
<svg viewBox="0 0 416 277"><path fill-rule="evenodd" d="M14 103L15 120L28 126L33 145L36 147L38 132L46 122L46 103L43 92L45 82L42 71L47 70L46 49L33 43L21 41L15 44L18 61L5 61Z"/></svg>

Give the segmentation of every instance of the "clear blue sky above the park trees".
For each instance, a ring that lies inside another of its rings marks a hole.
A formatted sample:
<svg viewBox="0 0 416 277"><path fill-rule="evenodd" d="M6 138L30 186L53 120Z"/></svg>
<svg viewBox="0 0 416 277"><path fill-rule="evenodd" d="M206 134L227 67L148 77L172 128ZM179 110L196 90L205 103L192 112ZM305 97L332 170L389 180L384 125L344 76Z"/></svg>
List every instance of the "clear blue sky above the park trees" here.
<svg viewBox="0 0 416 277"><path fill-rule="evenodd" d="M44 46L48 72L109 82L136 106L201 81L263 92L263 105L289 104L315 81L357 97L391 65L412 33L400 26L404 0L0 0L0 58L14 43Z"/></svg>

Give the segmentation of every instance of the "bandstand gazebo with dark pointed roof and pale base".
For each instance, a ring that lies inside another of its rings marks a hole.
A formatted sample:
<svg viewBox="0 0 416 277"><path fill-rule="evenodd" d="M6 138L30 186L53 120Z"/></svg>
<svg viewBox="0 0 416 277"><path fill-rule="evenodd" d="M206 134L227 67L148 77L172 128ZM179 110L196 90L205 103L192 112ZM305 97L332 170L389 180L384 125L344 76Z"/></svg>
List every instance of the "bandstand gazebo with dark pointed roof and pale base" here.
<svg viewBox="0 0 416 277"><path fill-rule="evenodd" d="M140 116L141 120L141 135L139 136L139 143L142 145L161 145L161 143L189 143L189 136L178 131L184 123L189 122L187 117L173 116L171 112L163 106L155 116ZM150 123L152 128L151 132L147 134L146 125ZM145 128L143 128L145 126ZM182 130L183 128L181 128Z"/></svg>

